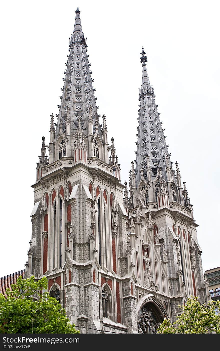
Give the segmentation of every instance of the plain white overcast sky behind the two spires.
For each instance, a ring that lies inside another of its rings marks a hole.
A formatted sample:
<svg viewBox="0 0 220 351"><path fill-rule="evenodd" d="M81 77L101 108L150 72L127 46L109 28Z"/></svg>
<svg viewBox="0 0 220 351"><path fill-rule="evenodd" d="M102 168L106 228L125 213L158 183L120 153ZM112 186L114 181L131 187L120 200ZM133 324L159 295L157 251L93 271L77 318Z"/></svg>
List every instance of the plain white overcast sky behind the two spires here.
<svg viewBox="0 0 220 351"><path fill-rule="evenodd" d="M0 277L24 268L42 136L58 113L75 11L98 112L122 183L135 159L142 46L171 161L194 208L203 271L219 259L219 1L4 1L1 4Z"/></svg>

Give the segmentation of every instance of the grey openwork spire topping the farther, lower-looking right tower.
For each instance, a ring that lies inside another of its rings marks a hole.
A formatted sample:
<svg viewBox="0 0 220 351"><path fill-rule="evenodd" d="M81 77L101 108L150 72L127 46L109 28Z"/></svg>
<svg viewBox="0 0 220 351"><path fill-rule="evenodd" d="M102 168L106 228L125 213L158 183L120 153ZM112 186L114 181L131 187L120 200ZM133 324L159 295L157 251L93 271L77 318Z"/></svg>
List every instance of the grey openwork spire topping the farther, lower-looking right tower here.
<svg viewBox="0 0 220 351"><path fill-rule="evenodd" d="M139 90L138 109L138 141L136 153L136 186L141 179L141 168L143 168L144 178L152 181L160 175L167 181L167 169L172 170L166 136L162 129L162 122L159 119L157 105L155 104L155 94L147 74L147 57L144 49L140 53L142 63L142 87ZM159 173L158 173L159 171ZM150 174L151 173L151 174Z"/></svg>

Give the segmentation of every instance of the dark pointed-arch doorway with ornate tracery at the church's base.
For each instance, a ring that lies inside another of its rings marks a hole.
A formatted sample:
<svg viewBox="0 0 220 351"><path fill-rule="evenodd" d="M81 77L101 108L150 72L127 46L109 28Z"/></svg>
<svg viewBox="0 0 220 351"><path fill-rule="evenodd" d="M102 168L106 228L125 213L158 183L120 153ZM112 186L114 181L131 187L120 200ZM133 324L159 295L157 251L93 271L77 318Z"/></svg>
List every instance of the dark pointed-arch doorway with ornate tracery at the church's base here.
<svg viewBox="0 0 220 351"><path fill-rule="evenodd" d="M156 307L152 303L146 303L138 312L138 333L156 334L158 325L162 321Z"/></svg>

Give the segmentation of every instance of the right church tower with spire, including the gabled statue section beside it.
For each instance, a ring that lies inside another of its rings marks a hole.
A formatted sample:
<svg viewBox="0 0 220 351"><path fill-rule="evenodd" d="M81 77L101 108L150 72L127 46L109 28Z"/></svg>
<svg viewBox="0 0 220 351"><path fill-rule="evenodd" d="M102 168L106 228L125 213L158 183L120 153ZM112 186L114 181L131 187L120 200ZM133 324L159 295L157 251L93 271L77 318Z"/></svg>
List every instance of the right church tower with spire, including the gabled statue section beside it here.
<svg viewBox="0 0 220 351"><path fill-rule="evenodd" d="M154 304L164 307L173 322L191 295L208 299L204 283L197 224L193 218L186 182L181 182L179 165L172 168L155 94L141 52L142 86L139 90L138 133L135 168L129 177L130 197L125 190L127 230L131 262L140 305L138 330L145 333L145 318L157 320ZM125 184L126 185L126 184ZM153 303L152 301L152 303ZM151 312L150 312L151 311Z"/></svg>

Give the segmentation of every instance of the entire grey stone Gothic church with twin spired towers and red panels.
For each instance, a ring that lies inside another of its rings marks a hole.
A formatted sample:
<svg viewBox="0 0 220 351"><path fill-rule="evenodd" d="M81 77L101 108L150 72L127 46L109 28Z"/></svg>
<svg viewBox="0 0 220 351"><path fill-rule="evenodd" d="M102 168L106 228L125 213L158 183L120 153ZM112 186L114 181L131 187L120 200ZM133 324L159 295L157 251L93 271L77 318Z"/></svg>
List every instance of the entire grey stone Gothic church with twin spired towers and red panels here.
<svg viewBox="0 0 220 351"><path fill-rule="evenodd" d="M88 57L77 8L57 124L51 114L32 185L25 277L46 276L81 333L155 333L190 295L207 300L198 225L170 162L144 49L130 196L106 116L99 122Z"/></svg>

